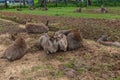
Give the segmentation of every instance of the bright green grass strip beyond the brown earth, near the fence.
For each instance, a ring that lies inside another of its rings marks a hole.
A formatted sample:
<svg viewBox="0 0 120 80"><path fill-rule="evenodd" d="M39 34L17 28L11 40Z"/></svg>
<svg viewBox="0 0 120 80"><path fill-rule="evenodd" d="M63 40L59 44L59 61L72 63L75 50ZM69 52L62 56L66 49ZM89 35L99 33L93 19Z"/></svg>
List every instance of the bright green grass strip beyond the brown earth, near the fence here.
<svg viewBox="0 0 120 80"><path fill-rule="evenodd" d="M98 7L89 7L87 9L97 9ZM35 15L49 15L49 16L66 16L66 17L76 17L76 18L102 18L102 19L120 19L119 14L101 14L101 13L87 13L86 8L83 8L82 13L74 13L73 11L76 7L56 7L56 8L49 8L48 11L40 11L39 9L35 9L33 11L24 8L22 11L16 11L16 9L4 9L1 11L6 12L16 12L16 13L23 13L23 14L35 14ZM109 8L113 11L118 11L119 7L111 7Z"/></svg>

